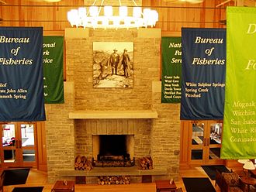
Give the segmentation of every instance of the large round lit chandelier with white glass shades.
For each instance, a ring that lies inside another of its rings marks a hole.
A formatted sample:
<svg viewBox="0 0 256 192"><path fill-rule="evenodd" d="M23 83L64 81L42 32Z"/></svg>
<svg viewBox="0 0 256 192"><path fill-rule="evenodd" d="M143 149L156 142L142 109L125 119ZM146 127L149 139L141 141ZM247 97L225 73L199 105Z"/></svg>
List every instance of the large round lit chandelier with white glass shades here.
<svg viewBox="0 0 256 192"><path fill-rule="evenodd" d="M119 6L103 5L104 0L102 0L101 5L96 6L94 2L89 7L71 9L67 12L67 20L71 26L93 29L129 29L155 26L158 21L157 11L148 8L142 10L134 0L132 1L133 6L129 7L123 6L120 0Z"/></svg>

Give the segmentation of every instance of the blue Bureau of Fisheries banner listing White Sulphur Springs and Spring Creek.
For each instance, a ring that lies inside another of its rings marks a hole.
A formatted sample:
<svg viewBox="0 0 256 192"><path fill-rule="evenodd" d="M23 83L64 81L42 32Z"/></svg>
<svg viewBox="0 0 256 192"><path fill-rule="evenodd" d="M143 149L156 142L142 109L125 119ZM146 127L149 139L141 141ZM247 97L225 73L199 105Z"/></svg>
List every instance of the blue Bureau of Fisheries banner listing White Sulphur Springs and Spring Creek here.
<svg viewBox="0 0 256 192"><path fill-rule="evenodd" d="M181 119L223 119L226 29L182 28Z"/></svg>

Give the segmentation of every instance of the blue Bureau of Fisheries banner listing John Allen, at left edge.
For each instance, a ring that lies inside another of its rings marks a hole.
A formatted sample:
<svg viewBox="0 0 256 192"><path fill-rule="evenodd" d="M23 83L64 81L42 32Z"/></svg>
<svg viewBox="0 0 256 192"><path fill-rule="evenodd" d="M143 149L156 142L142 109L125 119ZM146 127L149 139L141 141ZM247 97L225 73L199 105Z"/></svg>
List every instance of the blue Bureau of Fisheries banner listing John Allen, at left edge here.
<svg viewBox="0 0 256 192"><path fill-rule="evenodd" d="M0 27L0 121L44 121L43 28Z"/></svg>

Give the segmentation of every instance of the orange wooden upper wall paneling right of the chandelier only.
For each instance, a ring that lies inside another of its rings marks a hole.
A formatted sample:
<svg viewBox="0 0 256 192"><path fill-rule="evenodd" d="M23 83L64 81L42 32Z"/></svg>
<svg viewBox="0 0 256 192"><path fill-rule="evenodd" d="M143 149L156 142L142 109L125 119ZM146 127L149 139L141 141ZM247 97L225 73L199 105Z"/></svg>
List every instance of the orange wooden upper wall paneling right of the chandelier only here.
<svg viewBox="0 0 256 192"><path fill-rule="evenodd" d="M219 2L220 0L204 1L195 5L163 1L154 2L153 7L157 7L160 20L157 22L157 27L164 32L181 31L182 27L223 28L219 20L224 15L226 16L226 10L216 8Z"/></svg>

